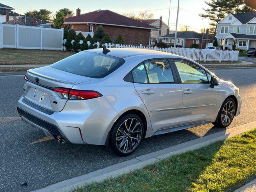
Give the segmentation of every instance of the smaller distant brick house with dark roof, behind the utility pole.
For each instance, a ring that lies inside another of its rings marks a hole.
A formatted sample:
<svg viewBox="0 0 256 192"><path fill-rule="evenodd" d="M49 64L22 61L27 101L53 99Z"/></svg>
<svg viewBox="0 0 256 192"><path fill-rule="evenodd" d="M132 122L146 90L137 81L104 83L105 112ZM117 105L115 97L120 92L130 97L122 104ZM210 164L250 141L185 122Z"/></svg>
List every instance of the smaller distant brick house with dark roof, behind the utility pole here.
<svg viewBox="0 0 256 192"><path fill-rule="evenodd" d="M175 33L164 35L161 38L163 42L173 45L174 36L175 36ZM198 33L195 31L179 31L177 32L176 45L190 48L191 44L198 44L198 48L200 48L202 43L202 36L203 36L202 33ZM206 47L206 43L213 43L213 42L214 42L214 38L207 38L207 36L204 36L204 42L203 42L202 48Z"/></svg>

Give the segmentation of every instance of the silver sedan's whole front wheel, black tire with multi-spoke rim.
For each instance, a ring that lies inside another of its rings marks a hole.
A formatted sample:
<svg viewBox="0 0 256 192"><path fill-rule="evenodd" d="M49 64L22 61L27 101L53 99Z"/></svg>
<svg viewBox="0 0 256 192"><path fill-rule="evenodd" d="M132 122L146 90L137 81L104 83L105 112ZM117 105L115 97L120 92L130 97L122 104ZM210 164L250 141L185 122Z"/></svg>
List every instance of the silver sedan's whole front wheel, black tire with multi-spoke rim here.
<svg viewBox="0 0 256 192"><path fill-rule="evenodd" d="M234 99L227 98L223 102L220 108L216 121L213 122L212 124L218 127L226 128L233 121L235 112L236 112L236 103Z"/></svg>

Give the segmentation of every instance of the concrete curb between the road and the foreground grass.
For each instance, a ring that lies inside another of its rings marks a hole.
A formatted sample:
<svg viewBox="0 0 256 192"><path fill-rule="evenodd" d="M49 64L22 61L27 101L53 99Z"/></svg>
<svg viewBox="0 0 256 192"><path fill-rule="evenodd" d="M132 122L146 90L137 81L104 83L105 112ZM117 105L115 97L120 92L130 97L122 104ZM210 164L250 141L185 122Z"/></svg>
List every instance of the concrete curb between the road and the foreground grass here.
<svg viewBox="0 0 256 192"><path fill-rule="evenodd" d="M213 142L225 140L232 136L236 136L243 132L249 131L256 128L256 121L246 123L240 126L236 126L224 131L220 131L202 138L191 140L176 146L165 148L156 152L138 156L131 160L115 164L113 166L96 170L88 174L84 174L78 177L74 177L62 182L58 182L32 192L68 192L76 187L90 184L92 182L100 182L107 178L116 177L121 174L128 173L130 171L143 168L148 164L157 162L163 158L168 158L174 154L180 154L186 151L195 150L207 146Z"/></svg>

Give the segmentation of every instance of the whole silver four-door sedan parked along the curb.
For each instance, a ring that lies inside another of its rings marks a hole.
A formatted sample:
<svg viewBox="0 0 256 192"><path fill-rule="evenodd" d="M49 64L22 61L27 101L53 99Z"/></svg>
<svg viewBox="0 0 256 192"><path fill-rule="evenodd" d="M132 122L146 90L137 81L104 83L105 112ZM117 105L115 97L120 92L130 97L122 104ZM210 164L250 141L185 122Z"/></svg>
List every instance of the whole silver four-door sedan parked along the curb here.
<svg viewBox="0 0 256 192"><path fill-rule="evenodd" d="M61 143L112 146L126 156L143 138L240 113L239 89L197 62L154 50L79 52L30 69L18 101L22 120Z"/></svg>

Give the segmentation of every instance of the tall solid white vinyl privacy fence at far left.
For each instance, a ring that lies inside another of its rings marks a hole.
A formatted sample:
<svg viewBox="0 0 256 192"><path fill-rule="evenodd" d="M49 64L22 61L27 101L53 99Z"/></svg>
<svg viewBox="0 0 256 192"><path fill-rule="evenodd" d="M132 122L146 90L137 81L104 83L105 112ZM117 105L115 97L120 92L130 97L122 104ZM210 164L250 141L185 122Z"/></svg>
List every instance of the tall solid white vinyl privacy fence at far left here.
<svg viewBox="0 0 256 192"><path fill-rule="evenodd" d="M0 48L62 50L63 29L0 23Z"/></svg>

